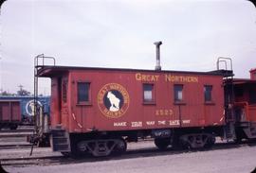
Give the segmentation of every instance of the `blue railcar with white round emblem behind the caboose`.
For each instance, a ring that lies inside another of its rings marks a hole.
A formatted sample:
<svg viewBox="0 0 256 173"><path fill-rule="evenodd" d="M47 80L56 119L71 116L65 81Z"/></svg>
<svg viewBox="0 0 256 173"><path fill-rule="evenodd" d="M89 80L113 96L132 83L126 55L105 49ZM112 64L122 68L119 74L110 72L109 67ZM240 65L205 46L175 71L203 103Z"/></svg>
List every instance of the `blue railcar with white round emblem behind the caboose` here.
<svg viewBox="0 0 256 173"><path fill-rule="evenodd" d="M34 117L34 96L0 96L0 100L18 100L20 102L21 107L21 116L22 116L22 124L33 124ZM38 105L40 105L41 109L44 109L43 112L49 114L50 106L50 96L39 96L38 97Z"/></svg>

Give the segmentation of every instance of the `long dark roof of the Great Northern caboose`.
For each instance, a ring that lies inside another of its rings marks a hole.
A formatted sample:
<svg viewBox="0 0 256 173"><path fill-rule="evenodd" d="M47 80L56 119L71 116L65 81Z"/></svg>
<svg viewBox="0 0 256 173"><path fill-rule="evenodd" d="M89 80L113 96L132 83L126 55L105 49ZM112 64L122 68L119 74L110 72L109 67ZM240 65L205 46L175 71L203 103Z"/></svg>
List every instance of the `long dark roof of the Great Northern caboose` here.
<svg viewBox="0 0 256 173"><path fill-rule="evenodd" d="M145 69L129 69L129 68L102 68L102 67L79 67L79 66L36 66L38 77L56 77L70 71L113 71L113 72L148 72L148 73L180 73L207 76L223 76L231 77L233 72L229 70L216 70L210 72L194 72L194 71L171 71L171 70L145 70Z"/></svg>

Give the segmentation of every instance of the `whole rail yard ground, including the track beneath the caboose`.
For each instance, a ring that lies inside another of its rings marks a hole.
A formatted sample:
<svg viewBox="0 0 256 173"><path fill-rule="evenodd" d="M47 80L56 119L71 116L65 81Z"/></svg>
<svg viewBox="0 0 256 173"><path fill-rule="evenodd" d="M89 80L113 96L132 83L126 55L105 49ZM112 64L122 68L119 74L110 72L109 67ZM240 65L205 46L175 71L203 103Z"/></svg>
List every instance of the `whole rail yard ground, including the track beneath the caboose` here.
<svg viewBox="0 0 256 173"><path fill-rule="evenodd" d="M3 167L11 173L248 173L256 167L256 146L246 144L219 144L210 150L201 151L159 151L152 141L144 141L129 144L127 153L122 156L78 160L64 158L60 153L52 152L49 147L36 147L32 157L29 151L29 147L0 149Z"/></svg>

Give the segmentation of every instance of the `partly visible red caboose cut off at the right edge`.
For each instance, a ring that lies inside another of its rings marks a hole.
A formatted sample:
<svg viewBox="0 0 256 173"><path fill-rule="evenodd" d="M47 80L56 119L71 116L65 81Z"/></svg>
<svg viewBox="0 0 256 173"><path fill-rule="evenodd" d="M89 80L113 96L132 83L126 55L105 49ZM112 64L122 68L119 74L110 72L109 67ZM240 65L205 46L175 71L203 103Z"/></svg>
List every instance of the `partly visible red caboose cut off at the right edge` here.
<svg viewBox="0 0 256 173"><path fill-rule="evenodd" d="M249 78L233 79L233 118L236 140L256 138L256 69Z"/></svg>

